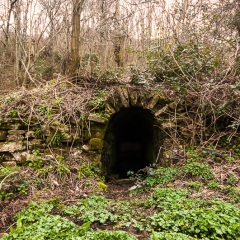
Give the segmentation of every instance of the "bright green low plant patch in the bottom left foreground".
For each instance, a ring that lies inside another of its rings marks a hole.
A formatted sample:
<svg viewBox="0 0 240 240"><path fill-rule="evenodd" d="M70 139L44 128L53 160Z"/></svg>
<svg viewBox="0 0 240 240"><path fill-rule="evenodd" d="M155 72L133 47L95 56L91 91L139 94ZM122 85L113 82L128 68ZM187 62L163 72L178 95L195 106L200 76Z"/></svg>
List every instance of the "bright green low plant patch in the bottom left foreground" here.
<svg viewBox="0 0 240 240"><path fill-rule="evenodd" d="M93 200L94 199L94 200ZM88 204L96 204L103 202L101 196L93 196L87 201L82 202ZM92 206L97 208L99 204ZM106 202L105 202L106 203ZM81 206L81 204L79 204ZM100 204L101 205L101 204ZM51 211L54 207L62 206L58 200L50 202L42 202L37 204L32 202L26 210L19 212L16 216L16 228L10 229L9 234L5 234L3 240L39 240L39 239L67 239L67 240L135 240L134 236L124 231L94 231L90 229L91 221L85 221L81 226L77 226L66 217L60 215L52 215ZM72 209L73 210L73 209ZM89 210L89 209L88 209ZM68 212L68 211L66 211ZM99 211L100 212L100 211ZM72 215L72 212L68 212ZM91 216L85 217L94 221ZM100 221L105 222L106 218L101 215Z"/></svg>

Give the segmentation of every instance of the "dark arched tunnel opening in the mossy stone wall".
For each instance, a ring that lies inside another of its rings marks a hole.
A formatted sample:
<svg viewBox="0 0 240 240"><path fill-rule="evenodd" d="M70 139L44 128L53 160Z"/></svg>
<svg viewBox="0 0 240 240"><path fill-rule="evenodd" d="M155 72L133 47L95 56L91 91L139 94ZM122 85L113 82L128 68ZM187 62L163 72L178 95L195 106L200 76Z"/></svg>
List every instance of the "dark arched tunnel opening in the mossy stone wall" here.
<svg viewBox="0 0 240 240"><path fill-rule="evenodd" d="M102 151L106 176L127 177L156 161L159 127L153 114L140 107L115 113L107 128Z"/></svg>

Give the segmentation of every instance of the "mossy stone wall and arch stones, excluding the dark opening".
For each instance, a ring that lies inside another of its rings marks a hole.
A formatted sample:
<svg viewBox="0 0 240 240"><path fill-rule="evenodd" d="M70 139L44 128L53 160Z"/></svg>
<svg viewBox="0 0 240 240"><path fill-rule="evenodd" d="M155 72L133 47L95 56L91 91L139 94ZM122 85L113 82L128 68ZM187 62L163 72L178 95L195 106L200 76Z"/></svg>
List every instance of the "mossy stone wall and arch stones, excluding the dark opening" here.
<svg viewBox="0 0 240 240"><path fill-rule="evenodd" d="M123 108L132 107L151 112L155 124L164 133L161 146L155 142L156 151L159 149L161 158L169 161L172 158L169 149L174 145L171 134L176 124L175 102L164 93L118 86L109 94L101 109L96 106L94 111L84 113L84 121L63 124L51 120L40 124L34 118L0 118L0 164L4 167L27 164L36 150L42 155L60 153L64 156L80 150L90 160L101 163L104 137L112 116Z"/></svg>

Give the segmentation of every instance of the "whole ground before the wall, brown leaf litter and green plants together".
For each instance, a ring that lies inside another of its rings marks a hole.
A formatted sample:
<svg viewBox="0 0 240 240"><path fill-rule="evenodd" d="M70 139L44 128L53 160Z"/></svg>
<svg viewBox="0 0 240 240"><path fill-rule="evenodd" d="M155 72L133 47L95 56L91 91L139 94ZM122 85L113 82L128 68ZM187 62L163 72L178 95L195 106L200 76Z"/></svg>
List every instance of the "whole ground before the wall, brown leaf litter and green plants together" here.
<svg viewBox="0 0 240 240"><path fill-rule="evenodd" d="M240 238L239 160L208 164L192 153L108 186L91 169L40 172L1 168L3 226L6 209L17 209L3 240Z"/></svg>

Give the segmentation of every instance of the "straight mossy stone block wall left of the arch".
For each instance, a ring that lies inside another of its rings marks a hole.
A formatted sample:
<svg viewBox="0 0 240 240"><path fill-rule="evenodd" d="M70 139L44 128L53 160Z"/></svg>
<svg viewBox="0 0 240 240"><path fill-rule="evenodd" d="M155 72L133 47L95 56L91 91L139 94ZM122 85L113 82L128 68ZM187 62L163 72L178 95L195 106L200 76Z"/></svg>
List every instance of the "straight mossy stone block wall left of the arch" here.
<svg viewBox="0 0 240 240"><path fill-rule="evenodd" d="M91 114L87 125L91 130L81 123L28 125L23 119L3 118L0 120L0 164L4 167L26 164L35 150L43 155L61 151L67 156L70 149L100 154L106 120Z"/></svg>

